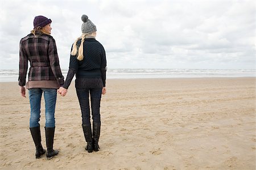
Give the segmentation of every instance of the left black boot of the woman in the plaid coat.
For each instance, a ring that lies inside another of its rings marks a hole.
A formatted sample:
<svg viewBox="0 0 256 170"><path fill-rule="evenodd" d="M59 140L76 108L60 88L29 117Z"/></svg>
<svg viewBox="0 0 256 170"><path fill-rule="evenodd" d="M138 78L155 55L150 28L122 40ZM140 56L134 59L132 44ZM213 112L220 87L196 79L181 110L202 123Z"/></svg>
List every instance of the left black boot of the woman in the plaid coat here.
<svg viewBox="0 0 256 170"><path fill-rule="evenodd" d="M40 126L30 128L30 132L33 138L33 141L36 146L36 159L39 159L41 155L46 153L46 150L41 145L41 132L40 132Z"/></svg>

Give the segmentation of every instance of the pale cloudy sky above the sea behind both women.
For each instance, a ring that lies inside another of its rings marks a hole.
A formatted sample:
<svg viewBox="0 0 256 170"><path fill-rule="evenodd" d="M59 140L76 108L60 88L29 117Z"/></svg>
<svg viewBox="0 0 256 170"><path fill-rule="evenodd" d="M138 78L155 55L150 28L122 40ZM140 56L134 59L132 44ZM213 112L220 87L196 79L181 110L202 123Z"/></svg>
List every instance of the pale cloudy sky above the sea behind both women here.
<svg viewBox="0 0 256 170"><path fill-rule="evenodd" d="M19 41L35 16L52 20L61 69L68 69L82 14L110 69L255 69L255 1L3 1L0 69L19 69Z"/></svg>

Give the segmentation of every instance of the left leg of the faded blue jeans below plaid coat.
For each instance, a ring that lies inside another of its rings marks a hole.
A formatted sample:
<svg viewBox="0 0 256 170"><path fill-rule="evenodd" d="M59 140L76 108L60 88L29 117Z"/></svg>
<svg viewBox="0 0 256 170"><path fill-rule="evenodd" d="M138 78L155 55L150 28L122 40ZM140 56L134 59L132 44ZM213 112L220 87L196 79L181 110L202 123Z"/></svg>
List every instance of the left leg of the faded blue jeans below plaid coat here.
<svg viewBox="0 0 256 170"><path fill-rule="evenodd" d="M30 96L30 128L34 128L39 126L43 91L40 88L31 88L28 93Z"/></svg>

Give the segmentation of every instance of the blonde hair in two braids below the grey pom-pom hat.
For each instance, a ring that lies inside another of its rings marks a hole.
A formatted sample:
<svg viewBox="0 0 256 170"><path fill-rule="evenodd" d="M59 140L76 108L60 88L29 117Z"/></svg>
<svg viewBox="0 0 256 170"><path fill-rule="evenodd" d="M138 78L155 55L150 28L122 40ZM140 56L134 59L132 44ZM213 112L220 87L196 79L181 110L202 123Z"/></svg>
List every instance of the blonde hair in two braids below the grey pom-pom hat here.
<svg viewBox="0 0 256 170"><path fill-rule="evenodd" d="M76 58L81 61L82 59L84 59L84 40L86 39L86 37L96 37L96 32L93 33L82 33L82 35L80 37L78 37L76 39L76 41L73 43L73 47L72 47L72 51L71 51L71 55L72 56L77 56ZM77 41L81 40L81 44L79 46L79 48L77 47ZM77 54L77 49L78 49L78 54Z"/></svg>

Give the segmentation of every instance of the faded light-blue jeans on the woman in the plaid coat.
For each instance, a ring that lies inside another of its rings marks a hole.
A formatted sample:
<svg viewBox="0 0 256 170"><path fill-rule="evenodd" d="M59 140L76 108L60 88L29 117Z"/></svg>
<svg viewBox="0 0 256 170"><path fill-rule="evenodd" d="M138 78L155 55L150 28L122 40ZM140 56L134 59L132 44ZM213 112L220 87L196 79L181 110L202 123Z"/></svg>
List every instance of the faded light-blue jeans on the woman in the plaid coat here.
<svg viewBox="0 0 256 170"><path fill-rule="evenodd" d="M44 92L46 104L46 128L55 127L55 105L57 90L54 88L31 88L30 95L30 128L38 127L40 121L41 98Z"/></svg>

